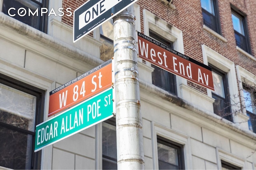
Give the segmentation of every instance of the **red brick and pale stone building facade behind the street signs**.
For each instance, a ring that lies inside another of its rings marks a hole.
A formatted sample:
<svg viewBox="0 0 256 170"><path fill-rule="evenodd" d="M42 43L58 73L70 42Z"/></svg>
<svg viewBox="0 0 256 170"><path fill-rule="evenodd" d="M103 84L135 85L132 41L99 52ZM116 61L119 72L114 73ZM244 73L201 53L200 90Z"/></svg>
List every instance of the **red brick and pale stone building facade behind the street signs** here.
<svg viewBox="0 0 256 170"><path fill-rule="evenodd" d="M114 55L112 20L73 43L85 2L0 0L0 169L117 168L114 117L34 152L49 92ZM145 169L256 169L256 1L133 6L136 30L211 66L215 89L138 59Z"/></svg>

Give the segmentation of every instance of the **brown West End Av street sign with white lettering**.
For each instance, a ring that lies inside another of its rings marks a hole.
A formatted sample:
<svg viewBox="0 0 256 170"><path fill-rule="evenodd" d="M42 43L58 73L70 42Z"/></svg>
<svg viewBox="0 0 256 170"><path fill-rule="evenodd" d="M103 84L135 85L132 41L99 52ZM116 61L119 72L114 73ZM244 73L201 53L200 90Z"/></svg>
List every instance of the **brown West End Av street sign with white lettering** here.
<svg viewBox="0 0 256 170"><path fill-rule="evenodd" d="M138 32L140 58L214 91L212 68Z"/></svg>

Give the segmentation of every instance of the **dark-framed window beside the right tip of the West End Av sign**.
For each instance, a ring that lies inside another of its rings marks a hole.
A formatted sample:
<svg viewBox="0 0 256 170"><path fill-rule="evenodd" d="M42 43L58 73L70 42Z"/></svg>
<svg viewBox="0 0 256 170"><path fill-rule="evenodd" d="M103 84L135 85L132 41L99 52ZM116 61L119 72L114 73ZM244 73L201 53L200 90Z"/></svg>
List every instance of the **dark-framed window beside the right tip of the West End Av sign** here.
<svg viewBox="0 0 256 170"><path fill-rule="evenodd" d="M215 99L213 103L213 110L216 115L223 117L233 122L230 111L230 98L228 93L228 78L226 73L212 67L212 78L214 83L214 92L212 98Z"/></svg>

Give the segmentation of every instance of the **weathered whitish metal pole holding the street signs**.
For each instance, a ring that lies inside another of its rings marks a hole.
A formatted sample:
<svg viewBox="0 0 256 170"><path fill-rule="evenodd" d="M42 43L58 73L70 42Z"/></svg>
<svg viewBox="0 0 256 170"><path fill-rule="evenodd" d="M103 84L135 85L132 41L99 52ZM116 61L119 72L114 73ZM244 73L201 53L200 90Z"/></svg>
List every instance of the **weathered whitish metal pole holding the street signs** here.
<svg viewBox="0 0 256 170"><path fill-rule="evenodd" d="M113 18L118 169L144 169L133 5Z"/></svg>

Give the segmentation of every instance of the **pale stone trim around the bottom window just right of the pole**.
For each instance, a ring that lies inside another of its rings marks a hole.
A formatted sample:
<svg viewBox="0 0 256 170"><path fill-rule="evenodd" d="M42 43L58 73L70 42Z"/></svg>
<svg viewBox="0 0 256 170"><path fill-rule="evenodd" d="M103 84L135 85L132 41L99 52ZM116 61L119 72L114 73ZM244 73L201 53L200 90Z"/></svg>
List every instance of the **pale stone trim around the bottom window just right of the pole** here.
<svg viewBox="0 0 256 170"><path fill-rule="evenodd" d="M164 127L158 123L151 122L152 128L152 152L153 152L153 169L158 168L158 148L157 148L157 135L164 137L170 141L174 141L181 145L184 145L184 162L185 169L192 169L192 154L190 137L180 132L174 131L168 127Z"/></svg>

